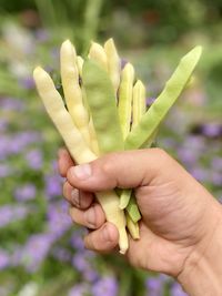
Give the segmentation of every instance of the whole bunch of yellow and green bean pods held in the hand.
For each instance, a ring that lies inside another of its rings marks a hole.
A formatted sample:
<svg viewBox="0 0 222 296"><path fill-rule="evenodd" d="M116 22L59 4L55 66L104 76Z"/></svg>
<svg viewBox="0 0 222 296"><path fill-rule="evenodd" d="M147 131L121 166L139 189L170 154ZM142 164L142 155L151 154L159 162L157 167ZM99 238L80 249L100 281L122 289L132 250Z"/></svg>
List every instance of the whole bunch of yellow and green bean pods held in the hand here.
<svg viewBox="0 0 222 296"><path fill-rule="evenodd" d="M87 58L77 55L67 40L60 50L63 96L40 67L33 72L40 98L79 164L110 152L149 147L168 111L186 86L200 59L196 47L184 55L163 91L147 110L145 86L137 80L133 65L121 69L112 39L104 45L92 42ZM107 221L119 229L120 253L129 247L128 233L140 238L141 214L132 190L98 192Z"/></svg>

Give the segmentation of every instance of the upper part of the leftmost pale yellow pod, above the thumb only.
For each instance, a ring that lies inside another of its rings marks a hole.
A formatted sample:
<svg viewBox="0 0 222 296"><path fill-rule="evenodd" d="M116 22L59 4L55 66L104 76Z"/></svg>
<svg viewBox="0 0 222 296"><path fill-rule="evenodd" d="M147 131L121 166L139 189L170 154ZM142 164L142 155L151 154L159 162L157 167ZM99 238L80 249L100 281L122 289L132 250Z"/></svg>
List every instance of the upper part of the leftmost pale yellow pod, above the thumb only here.
<svg viewBox="0 0 222 296"><path fill-rule="evenodd" d="M42 68L38 67L34 69L33 78L46 110L62 135L72 157L78 163L95 160L97 155L87 146L82 134L67 111L61 95L56 90L50 75Z"/></svg>

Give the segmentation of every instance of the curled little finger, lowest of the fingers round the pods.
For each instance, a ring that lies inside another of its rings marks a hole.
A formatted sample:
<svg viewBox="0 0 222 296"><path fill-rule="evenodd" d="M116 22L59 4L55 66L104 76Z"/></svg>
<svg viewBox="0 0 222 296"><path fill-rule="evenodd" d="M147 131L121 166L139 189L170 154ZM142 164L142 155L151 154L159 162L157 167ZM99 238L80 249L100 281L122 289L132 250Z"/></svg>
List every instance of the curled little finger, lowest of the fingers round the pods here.
<svg viewBox="0 0 222 296"><path fill-rule="evenodd" d="M91 251L109 253L113 251L119 242L117 227L107 222L97 231L89 233L84 237L84 246Z"/></svg>

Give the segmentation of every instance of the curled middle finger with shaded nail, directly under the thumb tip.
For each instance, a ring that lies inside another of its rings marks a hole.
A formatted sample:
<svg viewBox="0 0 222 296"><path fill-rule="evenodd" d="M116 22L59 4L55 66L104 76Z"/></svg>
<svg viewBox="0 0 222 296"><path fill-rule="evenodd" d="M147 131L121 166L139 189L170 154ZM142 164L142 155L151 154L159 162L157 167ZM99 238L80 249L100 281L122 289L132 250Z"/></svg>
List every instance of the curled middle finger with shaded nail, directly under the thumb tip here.
<svg viewBox="0 0 222 296"><path fill-rule="evenodd" d="M64 182L63 184L63 196L71 205L81 210L88 208L94 200L91 192L79 191L70 185L69 182Z"/></svg>

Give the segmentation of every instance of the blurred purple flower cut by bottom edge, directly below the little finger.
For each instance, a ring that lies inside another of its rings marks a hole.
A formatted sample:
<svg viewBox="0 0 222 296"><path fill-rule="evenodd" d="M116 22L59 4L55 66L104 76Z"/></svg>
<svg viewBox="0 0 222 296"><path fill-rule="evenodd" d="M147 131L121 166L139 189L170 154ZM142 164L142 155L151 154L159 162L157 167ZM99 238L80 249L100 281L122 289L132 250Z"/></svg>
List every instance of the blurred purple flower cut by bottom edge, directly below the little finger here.
<svg viewBox="0 0 222 296"><path fill-rule="evenodd" d="M117 296L118 280L113 276L103 276L92 286L93 296Z"/></svg>

